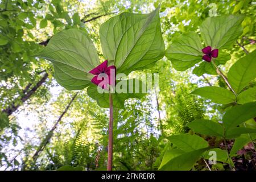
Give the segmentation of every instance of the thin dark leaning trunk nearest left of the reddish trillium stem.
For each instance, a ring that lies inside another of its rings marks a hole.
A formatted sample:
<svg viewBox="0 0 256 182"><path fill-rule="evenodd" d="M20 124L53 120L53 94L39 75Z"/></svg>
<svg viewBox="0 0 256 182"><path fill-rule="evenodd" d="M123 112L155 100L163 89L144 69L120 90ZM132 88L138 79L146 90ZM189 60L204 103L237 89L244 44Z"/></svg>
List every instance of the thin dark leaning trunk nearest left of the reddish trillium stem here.
<svg viewBox="0 0 256 182"><path fill-rule="evenodd" d="M71 99L71 101L68 103L67 107L65 108L65 110L63 111L63 113L61 113L59 119L56 121L55 125L53 125L52 129L48 132L46 138L44 138L44 140L42 141L42 143L40 143L38 150L36 150L35 154L33 155L32 159L34 160L34 162L36 162L36 160L38 159L39 153L42 152L44 150L44 148L46 147L46 145L49 143L49 140L52 138L53 135L53 131L56 129L57 125L59 124L59 122L61 121L61 119L63 118L64 114L67 113L69 107L71 106L72 102L75 100L77 94L79 92L77 92Z"/></svg>

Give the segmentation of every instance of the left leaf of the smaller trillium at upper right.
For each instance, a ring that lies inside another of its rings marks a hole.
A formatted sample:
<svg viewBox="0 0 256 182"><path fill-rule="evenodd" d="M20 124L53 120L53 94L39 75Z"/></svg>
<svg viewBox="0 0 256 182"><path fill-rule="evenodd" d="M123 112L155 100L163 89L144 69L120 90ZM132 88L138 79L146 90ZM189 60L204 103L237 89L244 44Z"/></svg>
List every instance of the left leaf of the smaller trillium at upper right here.
<svg viewBox="0 0 256 182"><path fill-rule="evenodd" d="M171 60L177 71L185 71L202 60L201 40L195 32L181 35L166 50L166 57Z"/></svg>

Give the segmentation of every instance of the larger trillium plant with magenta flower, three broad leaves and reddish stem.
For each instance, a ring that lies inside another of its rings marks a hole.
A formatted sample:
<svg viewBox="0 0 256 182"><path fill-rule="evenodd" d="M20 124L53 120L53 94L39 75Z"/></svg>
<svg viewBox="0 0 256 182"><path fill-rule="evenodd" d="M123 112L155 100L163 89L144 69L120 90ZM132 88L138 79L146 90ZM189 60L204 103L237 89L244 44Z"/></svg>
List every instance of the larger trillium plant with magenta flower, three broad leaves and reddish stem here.
<svg viewBox="0 0 256 182"><path fill-rule="evenodd" d="M116 75L151 68L164 56L159 7L150 14L122 13L110 18L100 27L100 40L102 63L88 33L79 29L57 33L36 56L52 62L61 86L68 90L87 88L88 96L99 106L109 107L108 170L112 170L113 109L122 109L125 100L144 95L114 92L116 84L128 85L129 91L143 87L142 83L134 85L135 79L118 80Z"/></svg>

